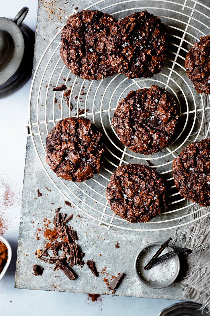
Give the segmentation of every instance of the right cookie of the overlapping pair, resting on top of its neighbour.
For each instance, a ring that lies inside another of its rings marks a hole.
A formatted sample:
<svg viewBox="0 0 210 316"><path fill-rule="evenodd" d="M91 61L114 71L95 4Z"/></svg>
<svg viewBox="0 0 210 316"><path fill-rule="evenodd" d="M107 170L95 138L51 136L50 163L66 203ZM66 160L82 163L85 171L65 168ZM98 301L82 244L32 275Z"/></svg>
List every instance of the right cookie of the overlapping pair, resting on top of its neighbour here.
<svg viewBox="0 0 210 316"><path fill-rule="evenodd" d="M117 21L108 39L112 66L128 78L152 77L167 58L168 33L160 19L147 11Z"/></svg>

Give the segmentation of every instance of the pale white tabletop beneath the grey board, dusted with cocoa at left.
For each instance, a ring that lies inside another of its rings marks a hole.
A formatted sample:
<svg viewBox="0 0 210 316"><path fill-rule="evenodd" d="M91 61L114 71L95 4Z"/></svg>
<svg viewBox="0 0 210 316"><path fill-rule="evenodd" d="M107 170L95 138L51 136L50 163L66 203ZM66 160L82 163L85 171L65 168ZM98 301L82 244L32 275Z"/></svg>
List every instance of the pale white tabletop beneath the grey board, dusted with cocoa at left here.
<svg viewBox="0 0 210 316"><path fill-rule="evenodd" d="M54 0L59 2L59 0ZM50 1L48 1L50 2ZM14 18L23 7L29 7L24 23L35 30L37 0L1 0L1 16ZM18 242L21 191L28 122L28 96L30 80L14 94L0 99L0 212L7 218L4 234L13 249L12 261L6 275L0 281L0 315L52 316L68 313L80 315L156 316L165 307L178 301L155 300L133 297L101 296L101 301L88 300L87 294L59 293L15 289L15 263ZM13 192L11 206L5 206L5 185ZM161 291L161 289L160 289Z"/></svg>

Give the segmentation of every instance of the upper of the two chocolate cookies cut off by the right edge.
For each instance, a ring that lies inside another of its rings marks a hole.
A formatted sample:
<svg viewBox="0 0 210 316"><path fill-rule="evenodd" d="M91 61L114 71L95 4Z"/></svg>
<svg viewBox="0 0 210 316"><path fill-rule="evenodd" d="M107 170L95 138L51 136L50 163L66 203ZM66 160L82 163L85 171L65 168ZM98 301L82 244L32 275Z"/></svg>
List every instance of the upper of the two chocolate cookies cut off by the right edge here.
<svg viewBox="0 0 210 316"><path fill-rule="evenodd" d="M210 94L210 36L201 37L189 50L185 68L197 92Z"/></svg>

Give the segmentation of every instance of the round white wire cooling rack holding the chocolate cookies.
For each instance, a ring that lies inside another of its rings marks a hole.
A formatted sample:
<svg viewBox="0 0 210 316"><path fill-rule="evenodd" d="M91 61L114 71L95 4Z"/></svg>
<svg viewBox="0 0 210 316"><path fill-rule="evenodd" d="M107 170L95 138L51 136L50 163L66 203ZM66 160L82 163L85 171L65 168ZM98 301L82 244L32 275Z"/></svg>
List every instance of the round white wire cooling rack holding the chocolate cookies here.
<svg viewBox="0 0 210 316"><path fill-rule="evenodd" d="M98 225L107 229L115 227L157 231L178 228L210 214L207 209L182 198L172 176L173 159L189 143L206 138L210 129L210 96L195 91L184 68L185 56L190 47L201 36L210 33L210 9L204 1L127 0L114 3L101 0L84 8L102 10L116 19L142 10L160 17L169 30L170 49L163 70L152 78L131 80L116 74L100 81L89 81L72 75L59 54L62 29L55 34L38 62L29 98L29 128L36 154L58 191L79 210L97 220ZM61 84L67 85L68 90L52 91L53 87ZM180 131L169 147L145 156L133 153L120 142L111 126L111 119L118 102L129 91L148 88L152 84L165 88L177 99L181 113ZM105 136L104 165L100 173L82 183L58 178L45 163L48 133L58 121L69 116L91 119ZM155 168L168 185L169 209L148 223L131 224L115 216L108 205L105 189L110 176L117 167L127 163L147 164Z"/></svg>

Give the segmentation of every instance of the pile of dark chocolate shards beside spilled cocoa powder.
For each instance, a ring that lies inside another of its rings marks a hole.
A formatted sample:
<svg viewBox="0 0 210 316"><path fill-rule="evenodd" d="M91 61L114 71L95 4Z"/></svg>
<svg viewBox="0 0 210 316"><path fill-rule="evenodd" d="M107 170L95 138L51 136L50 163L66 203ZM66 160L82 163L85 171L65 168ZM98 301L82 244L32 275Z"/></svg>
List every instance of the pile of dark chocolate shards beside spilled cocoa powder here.
<svg viewBox="0 0 210 316"><path fill-rule="evenodd" d="M81 252L76 244L78 239L76 231L72 230L71 226L68 227L66 225L73 218L73 214L66 217L66 214L60 213L60 209L59 207L55 210L53 218L53 224L59 232L59 240L55 240L51 246L45 247L38 255L38 258L47 264L55 264L53 270L62 270L72 281L75 279L72 267L73 265L83 267L85 264L83 260L85 253ZM53 256L50 256L48 251L51 251ZM61 255L58 254L59 251L62 252Z"/></svg>

